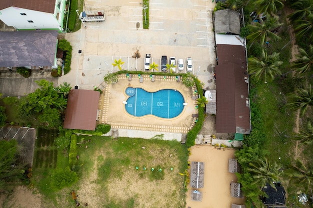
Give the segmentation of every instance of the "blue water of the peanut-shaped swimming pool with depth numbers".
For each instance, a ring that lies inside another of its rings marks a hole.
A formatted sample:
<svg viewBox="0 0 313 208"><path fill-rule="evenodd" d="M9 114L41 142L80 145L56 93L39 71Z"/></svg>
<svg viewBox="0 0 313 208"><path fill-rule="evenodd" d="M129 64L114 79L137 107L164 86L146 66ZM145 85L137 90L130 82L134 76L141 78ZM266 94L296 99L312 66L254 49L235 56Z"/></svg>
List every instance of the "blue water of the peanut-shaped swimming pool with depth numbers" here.
<svg viewBox="0 0 313 208"><path fill-rule="evenodd" d="M154 115L161 118L174 118L183 109L184 99L180 92L164 89L147 92L141 88L127 87L126 111L133 116Z"/></svg>

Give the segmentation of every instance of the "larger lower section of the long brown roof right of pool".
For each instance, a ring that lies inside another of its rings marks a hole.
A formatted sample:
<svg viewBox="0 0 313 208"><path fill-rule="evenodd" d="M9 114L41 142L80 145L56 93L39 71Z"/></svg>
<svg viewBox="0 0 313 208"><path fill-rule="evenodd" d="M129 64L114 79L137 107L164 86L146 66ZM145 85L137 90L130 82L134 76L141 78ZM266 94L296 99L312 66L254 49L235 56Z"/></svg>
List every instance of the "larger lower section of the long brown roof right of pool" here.
<svg viewBox="0 0 313 208"><path fill-rule="evenodd" d="M218 64L216 74L216 132L250 133L248 84L245 68L238 64Z"/></svg>

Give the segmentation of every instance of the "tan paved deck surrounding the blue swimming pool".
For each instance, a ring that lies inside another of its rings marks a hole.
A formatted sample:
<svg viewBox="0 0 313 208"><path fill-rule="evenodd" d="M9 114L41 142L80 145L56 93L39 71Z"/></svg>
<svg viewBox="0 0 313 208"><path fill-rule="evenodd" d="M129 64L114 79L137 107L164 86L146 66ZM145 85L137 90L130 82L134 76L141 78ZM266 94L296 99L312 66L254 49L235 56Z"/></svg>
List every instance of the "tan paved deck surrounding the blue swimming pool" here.
<svg viewBox="0 0 313 208"><path fill-rule="evenodd" d="M179 133L186 134L195 124L195 118L192 114L196 114L197 109L194 87L186 87L182 82L177 82L175 76L166 76L166 79L161 75L155 75L155 81L152 82L149 75L144 74L143 82L140 83L136 74L132 75L131 81L128 81L125 74L118 75L118 82L115 84L107 85L100 96L100 109L99 123L111 125L112 129L128 129L149 132L164 132L164 133ZM165 119L153 115L145 115L135 117L128 114L125 110L123 101L126 101L128 96L125 94L127 87L140 87L146 91L155 92L161 89L175 89L179 91L184 102L182 112L174 118ZM197 96L197 94L196 94Z"/></svg>

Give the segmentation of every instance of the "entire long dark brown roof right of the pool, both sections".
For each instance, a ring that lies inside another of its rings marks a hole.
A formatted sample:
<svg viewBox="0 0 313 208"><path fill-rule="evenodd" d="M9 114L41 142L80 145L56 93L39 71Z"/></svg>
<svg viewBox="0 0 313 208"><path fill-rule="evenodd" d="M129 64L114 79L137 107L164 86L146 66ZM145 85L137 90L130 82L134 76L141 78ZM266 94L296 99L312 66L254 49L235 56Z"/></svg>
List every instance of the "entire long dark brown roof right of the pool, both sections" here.
<svg viewBox="0 0 313 208"><path fill-rule="evenodd" d="M217 45L216 132L250 133L250 110L245 48L240 45Z"/></svg>

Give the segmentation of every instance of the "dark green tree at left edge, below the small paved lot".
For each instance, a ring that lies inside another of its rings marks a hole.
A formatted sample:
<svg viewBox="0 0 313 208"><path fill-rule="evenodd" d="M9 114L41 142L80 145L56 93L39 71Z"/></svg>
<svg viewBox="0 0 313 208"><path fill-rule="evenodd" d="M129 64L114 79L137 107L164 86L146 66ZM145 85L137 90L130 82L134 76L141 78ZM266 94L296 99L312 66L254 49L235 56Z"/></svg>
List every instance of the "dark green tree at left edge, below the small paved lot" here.
<svg viewBox="0 0 313 208"><path fill-rule="evenodd" d="M17 164L16 140L0 140L0 150L0 192L9 193L14 186L20 185L24 171Z"/></svg>

